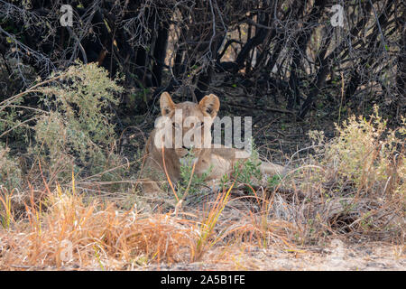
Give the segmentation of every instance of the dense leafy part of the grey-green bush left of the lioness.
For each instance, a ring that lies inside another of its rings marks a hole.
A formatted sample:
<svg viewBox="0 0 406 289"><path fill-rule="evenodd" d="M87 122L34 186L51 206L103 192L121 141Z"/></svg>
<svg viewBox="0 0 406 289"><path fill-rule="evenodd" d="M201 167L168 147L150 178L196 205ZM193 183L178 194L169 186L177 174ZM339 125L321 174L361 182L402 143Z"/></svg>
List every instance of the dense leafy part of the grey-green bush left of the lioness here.
<svg viewBox="0 0 406 289"><path fill-rule="evenodd" d="M115 83L118 79L109 79L108 72L95 63L77 63L51 79L49 86L39 89L44 106L51 109L39 116L34 127L34 151L54 170L62 165L63 171L63 164L75 163L76 169L79 165L91 173L102 172L115 144L108 108L117 102L114 93L122 91Z"/></svg>

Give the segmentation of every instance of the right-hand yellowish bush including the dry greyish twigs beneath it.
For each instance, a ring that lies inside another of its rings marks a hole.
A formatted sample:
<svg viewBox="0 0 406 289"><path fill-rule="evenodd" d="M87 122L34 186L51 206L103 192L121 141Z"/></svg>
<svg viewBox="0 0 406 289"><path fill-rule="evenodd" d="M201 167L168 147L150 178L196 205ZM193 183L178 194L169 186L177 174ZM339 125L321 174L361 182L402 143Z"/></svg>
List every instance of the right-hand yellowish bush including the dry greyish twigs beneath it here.
<svg viewBox="0 0 406 289"><path fill-rule="evenodd" d="M369 120L350 117L336 128L337 136L327 144L322 134L309 134L322 156L311 158L292 180L300 188L300 202L287 206L293 212L287 218L296 220L307 241L328 231L355 238L403 238L406 120L388 128L374 107Z"/></svg>

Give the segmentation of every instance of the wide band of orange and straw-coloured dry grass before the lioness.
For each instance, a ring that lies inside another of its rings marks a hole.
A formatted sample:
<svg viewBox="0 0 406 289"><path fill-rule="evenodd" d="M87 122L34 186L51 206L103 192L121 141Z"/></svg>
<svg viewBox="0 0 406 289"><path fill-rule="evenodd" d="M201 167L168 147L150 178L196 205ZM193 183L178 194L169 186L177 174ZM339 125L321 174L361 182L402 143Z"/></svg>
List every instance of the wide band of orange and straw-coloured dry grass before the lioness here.
<svg viewBox="0 0 406 289"><path fill-rule="evenodd" d="M120 210L113 202L84 200L73 182L66 191L32 190L23 217L14 216L14 196L3 194L7 222L0 229L0 269L252 270L269 267L267 259L285 260L278 262L286 269L297 257L309 258L311 247L299 238L309 233L309 223L272 217L278 210L276 194L238 196L231 189L212 195L193 212L185 207L142 213ZM34 200L38 195L42 198ZM300 207L288 201L285 205L299 213ZM338 232L329 230L337 238Z"/></svg>

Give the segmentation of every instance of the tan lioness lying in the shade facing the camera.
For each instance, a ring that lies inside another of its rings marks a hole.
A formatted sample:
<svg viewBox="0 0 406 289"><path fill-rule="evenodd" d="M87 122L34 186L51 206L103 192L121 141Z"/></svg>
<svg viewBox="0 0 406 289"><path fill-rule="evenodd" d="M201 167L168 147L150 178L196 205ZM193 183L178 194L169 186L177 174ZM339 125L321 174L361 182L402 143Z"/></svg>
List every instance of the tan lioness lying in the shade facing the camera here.
<svg viewBox="0 0 406 289"><path fill-rule="evenodd" d="M194 173L201 176L206 172L206 180L212 182L230 173L237 160L244 162L250 156L244 150L211 144L210 127L220 107L220 101L214 94L202 98L198 104L189 101L175 104L170 94L163 92L160 106L161 123L155 124L159 127L152 131L145 148L145 192L161 191L156 182L166 181L168 177L172 183L180 181L180 166L189 153L194 156ZM175 139L176 135L188 135L190 141L179 140L179 137ZM176 145L179 141L180 144ZM284 171L281 165L265 162L261 163L260 170L268 175Z"/></svg>

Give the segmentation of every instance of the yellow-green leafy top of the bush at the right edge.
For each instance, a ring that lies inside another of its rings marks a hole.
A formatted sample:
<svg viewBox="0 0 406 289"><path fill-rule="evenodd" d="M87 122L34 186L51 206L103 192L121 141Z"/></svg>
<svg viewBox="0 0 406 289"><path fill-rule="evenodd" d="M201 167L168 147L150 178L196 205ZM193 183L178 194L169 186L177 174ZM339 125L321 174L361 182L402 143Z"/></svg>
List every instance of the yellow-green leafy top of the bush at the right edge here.
<svg viewBox="0 0 406 289"><path fill-rule="evenodd" d="M337 178L343 182L351 180L358 191L381 195L398 191L401 182L406 182L400 173L406 165L404 118L402 126L389 129L379 116L378 107L374 107L369 121L353 116L336 128L338 135L327 145L323 164Z"/></svg>

